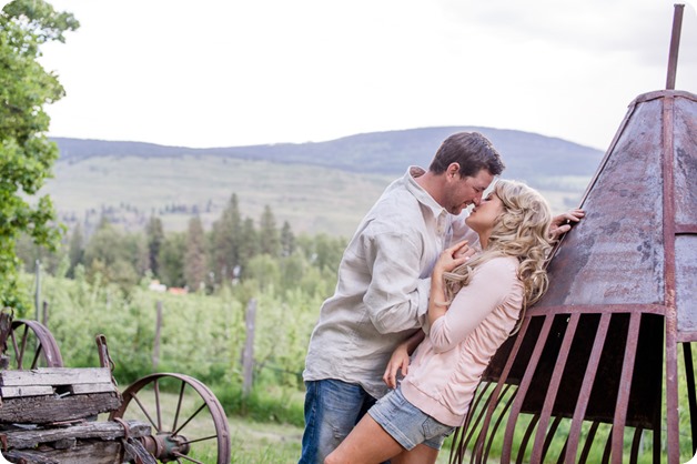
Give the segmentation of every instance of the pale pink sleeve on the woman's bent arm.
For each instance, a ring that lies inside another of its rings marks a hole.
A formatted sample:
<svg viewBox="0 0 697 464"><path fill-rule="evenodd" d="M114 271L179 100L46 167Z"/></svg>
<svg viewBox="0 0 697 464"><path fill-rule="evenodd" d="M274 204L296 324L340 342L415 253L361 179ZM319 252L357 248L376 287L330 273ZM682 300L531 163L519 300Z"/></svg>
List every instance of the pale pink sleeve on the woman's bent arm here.
<svg viewBox="0 0 697 464"><path fill-rule="evenodd" d="M517 276L503 259L491 260L477 268L468 285L453 299L445 315L433 322L428 336L436 353L457 346L511 293Z"/></svg>

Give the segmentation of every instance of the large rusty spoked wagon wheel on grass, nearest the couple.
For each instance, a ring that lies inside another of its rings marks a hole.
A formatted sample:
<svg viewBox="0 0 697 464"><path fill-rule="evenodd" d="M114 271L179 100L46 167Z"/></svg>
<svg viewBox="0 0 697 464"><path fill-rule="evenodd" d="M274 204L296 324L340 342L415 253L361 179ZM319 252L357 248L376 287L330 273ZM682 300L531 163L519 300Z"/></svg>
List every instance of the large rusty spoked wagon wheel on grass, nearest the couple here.
<svg viewBox="0 0 697 464"><path fill-rule="evenodd" d="M153 434L141 438L162 463L230 464L228 417L215 395L182 374L151 374L123 392L115 417L150 423Z"/></svg>

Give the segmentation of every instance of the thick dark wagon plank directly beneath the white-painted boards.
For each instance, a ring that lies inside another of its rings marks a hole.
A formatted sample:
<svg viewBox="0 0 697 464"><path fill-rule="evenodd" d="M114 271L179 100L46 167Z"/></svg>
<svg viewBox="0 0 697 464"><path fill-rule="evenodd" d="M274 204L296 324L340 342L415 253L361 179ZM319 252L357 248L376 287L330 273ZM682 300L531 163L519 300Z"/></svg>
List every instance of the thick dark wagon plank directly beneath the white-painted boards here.
<svg viewBox="0 0 697 464"><path fill-rule="evenodd" d="M0 423L48 424L74 421L119 408L118 393L7 399L0 406Z"/></svg>

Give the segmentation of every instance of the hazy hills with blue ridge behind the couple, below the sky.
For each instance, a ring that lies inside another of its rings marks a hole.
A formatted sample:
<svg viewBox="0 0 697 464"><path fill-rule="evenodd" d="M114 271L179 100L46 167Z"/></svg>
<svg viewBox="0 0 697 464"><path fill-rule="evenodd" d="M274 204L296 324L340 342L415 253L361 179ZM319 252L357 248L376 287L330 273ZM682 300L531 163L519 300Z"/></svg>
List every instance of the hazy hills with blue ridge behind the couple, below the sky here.
<svg viewBox="0 0 697 464"><path fill-rule="evenodd" d="M61 220L95 224L103 212L129 230L151 214L183 230L194 213L208 226L232 193L257 220L269 204L279 226L350 236L382 191L410 164L427 167L463 128L352 135L330 142L189 149L138 142L55 139L61 158L44 192ZM502 152L505 176L539 189L555 211L578 203L602 153L559 139L474 128Z"/></svg>

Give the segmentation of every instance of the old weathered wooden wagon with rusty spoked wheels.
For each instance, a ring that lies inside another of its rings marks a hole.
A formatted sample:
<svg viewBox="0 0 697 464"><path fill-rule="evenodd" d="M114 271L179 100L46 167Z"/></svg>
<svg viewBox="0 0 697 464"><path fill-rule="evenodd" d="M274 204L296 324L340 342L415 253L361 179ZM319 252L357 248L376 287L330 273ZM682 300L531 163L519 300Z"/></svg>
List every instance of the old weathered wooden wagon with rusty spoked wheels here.
<svg viewBox="0 0 697 464"><path fill-rule="evenodd" d="M103 335L99 367L64 367L37 321L0 312L0 446L24 464L229 464L215 395L182 374L147 375L120 393Z"/></svg>

